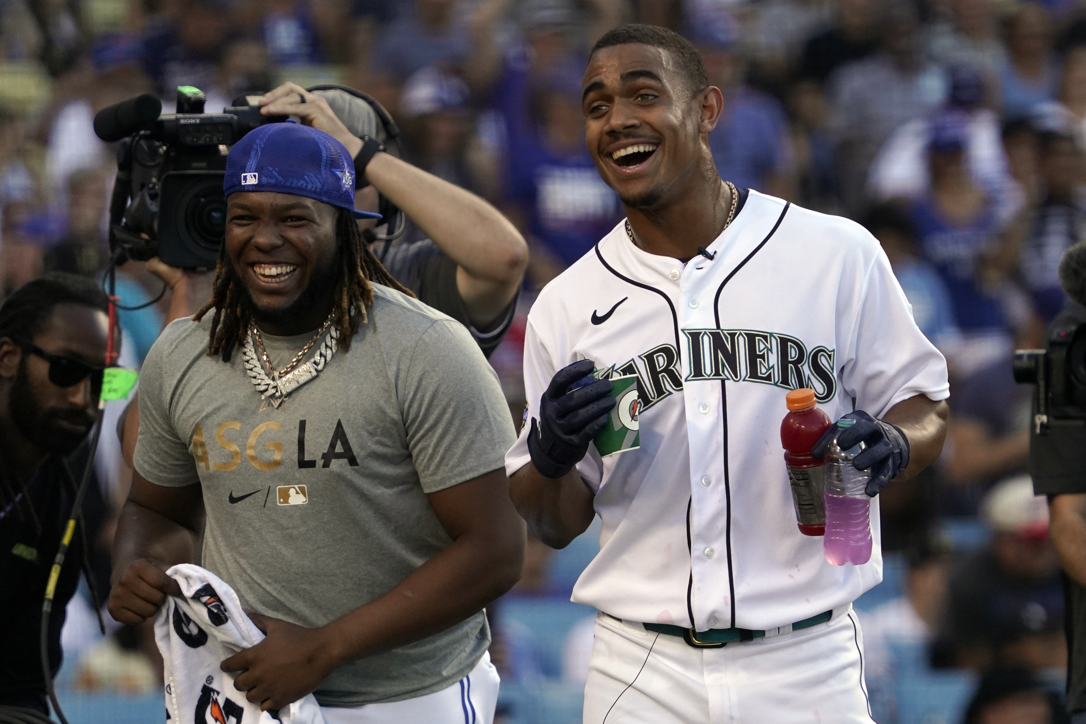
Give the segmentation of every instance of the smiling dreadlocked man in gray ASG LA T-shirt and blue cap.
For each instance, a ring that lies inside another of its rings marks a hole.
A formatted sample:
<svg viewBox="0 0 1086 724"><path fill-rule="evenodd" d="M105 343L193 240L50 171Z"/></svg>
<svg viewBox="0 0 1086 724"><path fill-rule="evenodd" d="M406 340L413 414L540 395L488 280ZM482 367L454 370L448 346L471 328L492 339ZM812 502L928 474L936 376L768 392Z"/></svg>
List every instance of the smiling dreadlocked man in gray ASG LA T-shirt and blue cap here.
<svg viewBox="0 0 1086 724"><path fill-rule="evenodd" d="M250 701L313 691L330 723L451 724L468 706L490 722L482 608L523 555L513 425L467 330L361 243L354 173L292 123L231 149L214 296L143 367L110 612L139 623L179 595L164 571L193 560L202 526L202 564L267 633L222 664Z"/></svg>

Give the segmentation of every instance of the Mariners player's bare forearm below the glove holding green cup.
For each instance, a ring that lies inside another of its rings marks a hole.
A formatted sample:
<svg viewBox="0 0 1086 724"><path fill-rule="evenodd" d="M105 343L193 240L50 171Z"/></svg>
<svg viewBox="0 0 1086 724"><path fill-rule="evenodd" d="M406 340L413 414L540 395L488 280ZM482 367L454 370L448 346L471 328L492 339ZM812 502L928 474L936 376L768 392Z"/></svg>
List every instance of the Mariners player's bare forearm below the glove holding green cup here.
<svg viewBox="0 0 1086 724"><path fill-rule="evenodd" d="M596 515L595 495L577 468L552 480L529 462L509 478L509 492L532 534L552 548L568 546Z"/></svg>

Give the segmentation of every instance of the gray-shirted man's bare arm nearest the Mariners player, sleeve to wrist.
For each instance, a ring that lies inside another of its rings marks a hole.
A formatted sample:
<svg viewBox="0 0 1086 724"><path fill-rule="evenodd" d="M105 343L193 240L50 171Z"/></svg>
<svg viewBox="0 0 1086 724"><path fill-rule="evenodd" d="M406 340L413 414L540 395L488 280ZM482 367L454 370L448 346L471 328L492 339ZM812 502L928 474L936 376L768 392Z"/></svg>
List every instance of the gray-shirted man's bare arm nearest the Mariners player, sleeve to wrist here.
<svg viewBox="0 0 1086 724"><path fill-rule="evenodd" d="M504 470L428 497L452 545L389 593L319 630L334 661L432 636L478 613L520 580L525 525L509 500Z"/></svg>

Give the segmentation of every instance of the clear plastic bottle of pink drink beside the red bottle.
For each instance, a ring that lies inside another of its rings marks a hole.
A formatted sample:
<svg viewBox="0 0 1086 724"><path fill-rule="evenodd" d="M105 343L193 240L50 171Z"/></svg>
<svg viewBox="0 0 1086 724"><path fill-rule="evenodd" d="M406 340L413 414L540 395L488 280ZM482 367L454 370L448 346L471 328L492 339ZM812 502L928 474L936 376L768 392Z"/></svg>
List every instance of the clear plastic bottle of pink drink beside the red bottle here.
<svg viewBox="0 0 1086 724"><path fill-rule="evenodd" d="M845 424L848 423L848 424ZM851 427L853 420L838 420L837 427ZM859 443L846 450L837 440L825 456L825 559L834 566L859 566L871 560L871 498L864 492L870 470L857 470L853 459L863 448Z"/></svg>

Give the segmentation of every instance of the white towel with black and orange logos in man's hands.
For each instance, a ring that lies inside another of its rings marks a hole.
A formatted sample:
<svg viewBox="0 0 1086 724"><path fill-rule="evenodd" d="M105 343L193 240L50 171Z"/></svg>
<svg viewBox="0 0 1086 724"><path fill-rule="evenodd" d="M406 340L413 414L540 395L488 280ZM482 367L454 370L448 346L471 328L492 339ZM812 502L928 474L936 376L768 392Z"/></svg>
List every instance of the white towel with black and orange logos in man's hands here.
<svg viewBox="0 0 1086 724"><path fill-rule="evenodd" d="M233 687L232 673L218 665L264 639L233 588L199 566L175 566L166 575L181 586L184 598L171 596L154 620L154 640L162 652L166 679L166 719L171 724L275 724L269 712ZM282 724L324 724L310 694L279 711Z"/></svg>

